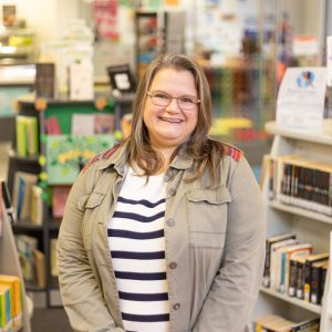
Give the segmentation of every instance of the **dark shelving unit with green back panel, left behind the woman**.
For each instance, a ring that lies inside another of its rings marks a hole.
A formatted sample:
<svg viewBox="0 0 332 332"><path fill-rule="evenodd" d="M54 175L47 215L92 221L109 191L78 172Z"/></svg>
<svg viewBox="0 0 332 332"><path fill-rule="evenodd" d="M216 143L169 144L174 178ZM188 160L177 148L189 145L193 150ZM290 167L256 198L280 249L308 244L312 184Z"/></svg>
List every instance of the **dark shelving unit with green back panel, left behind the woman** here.
<svg viewBox="0 0 332 332"><path fill-rule="evenodd" d="M43 100L44 107L38 105L33 95L25 95L18 98L19 104L19 115L35 116L39 124L39 154L32 157L21 157L18 155L15 148L17 143L13 144L13 149L10 152L9 159L9 190L13 194L14 186L14 174L15 172L27 172L33 173L39 176L48 172L46 165L41 163L40 156L44 156L48 160L48 139L50 136L45 132L45 121L48 117L56 117L59 126L61 128L61 135L65 136L71 133L71 116L73 114L93 114L93 113L113 113L113 107L105 104L104 107L100 107L96 100L91 101L70 101L70 100ZM129 101L124 101L125 104ZM117 111L121 113L121 110ZM105 136L105 135L103 135ZM106 148L105 148L106 149ZM48 163L48 162L46 162ZM77 167L83 165L75 164ZM58 176L58 186L71 186L69 181L61 183L62 177ZM51 183L50 178L44 180L46 183L46 189L44 193L52 193L54 184ZM48 194L51 195L51 194ZM61 217L54 217L52 214L52 199L49 196L43 201L43 219L41 225L32 224L31 220L23 219L18 220L13 226L14 235L28 235L38 240L38 249L44 253L44 266L45 266L45 287L38 287L35 283L25 282L27 292L31 295L35 307L60 307L62 305L61 295L59 291L59 281L56 273L54 273L54 255L52 255L52 249L54 249L53 239L58 238L59 228L61 225Z"/></svg>

